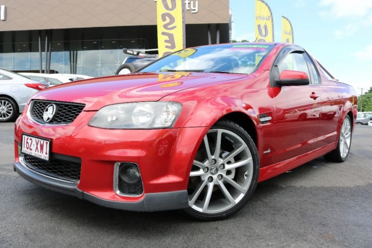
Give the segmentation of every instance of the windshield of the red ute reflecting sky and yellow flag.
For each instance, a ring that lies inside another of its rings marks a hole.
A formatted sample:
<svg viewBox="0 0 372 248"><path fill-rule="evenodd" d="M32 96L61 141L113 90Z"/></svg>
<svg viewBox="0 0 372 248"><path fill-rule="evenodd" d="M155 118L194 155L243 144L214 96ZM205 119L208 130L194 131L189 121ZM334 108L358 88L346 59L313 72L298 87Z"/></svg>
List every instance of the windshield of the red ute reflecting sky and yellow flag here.
<svg viewBox="0 0 372 248"><path fill-rule="evenodd" d="M223 44L187 48L155 61L140 72L196 71L251 74L274 45Z"/></svg>

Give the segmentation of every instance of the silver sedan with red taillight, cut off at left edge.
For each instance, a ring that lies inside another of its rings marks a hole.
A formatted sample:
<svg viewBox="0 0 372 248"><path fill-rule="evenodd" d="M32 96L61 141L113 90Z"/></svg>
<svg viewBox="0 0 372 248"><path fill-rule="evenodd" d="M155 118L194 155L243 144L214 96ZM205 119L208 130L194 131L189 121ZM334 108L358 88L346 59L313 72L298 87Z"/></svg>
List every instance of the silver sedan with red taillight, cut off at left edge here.
<svg viewBox="0 0 372 248"><path fill-rule="evenodd" d="M28 99L46 87L39 81L0 69L0 122L15 120Z"/></svg>

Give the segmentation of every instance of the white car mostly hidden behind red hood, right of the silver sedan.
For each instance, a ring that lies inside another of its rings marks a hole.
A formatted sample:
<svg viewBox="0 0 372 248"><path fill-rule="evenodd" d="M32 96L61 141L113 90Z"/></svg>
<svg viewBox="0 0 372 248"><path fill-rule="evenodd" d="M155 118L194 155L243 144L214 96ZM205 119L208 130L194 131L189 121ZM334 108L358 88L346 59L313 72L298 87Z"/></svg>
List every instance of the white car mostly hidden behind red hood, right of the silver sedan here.
<svg viewBox="0 0 372 248"><path fill-rule="evenodd" d="M36 79L36 80L47 81L50 83L50 86L92 78L90 76L77 75L77 74L45 74L45 73L27 73L27 72L22 72L20 74L26 77L29 77L29 78Z"/></svg>

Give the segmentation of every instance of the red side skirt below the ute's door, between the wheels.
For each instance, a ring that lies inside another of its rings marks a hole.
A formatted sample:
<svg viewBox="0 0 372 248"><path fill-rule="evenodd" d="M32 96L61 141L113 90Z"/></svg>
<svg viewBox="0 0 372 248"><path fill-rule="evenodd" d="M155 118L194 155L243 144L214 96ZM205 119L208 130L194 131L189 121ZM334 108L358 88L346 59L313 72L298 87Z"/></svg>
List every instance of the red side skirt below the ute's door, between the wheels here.
<svg viewBox="0 0 372 248"><path fill-rule="evenodd" d="M267 180L269 178L282 174L288 170L296 168L297 166L300 166L317 157L323 156L329 153L330 151L334 150L336 147L337 147L337 142L334 142L324 147L318 148L316 150L306 152L304 154L278 162L276 164L272 164L272 165L260 168L258 182Z"/></svg>

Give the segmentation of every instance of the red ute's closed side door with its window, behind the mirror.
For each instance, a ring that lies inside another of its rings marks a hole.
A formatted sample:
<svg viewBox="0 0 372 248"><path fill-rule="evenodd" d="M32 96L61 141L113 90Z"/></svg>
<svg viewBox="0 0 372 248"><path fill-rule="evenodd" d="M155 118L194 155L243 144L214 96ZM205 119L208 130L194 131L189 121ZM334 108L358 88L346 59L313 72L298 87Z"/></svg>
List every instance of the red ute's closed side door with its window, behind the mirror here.
<svg viewBox="0 0 372 248"><path fill-rule="evenodd" d="M315 148L320 125L321 97L304 50L287 49L278 56L271 78L284 70L305 72L309 85L273 87L276 107L272 162L280 162Z"/></svg>

